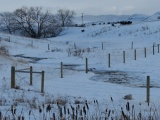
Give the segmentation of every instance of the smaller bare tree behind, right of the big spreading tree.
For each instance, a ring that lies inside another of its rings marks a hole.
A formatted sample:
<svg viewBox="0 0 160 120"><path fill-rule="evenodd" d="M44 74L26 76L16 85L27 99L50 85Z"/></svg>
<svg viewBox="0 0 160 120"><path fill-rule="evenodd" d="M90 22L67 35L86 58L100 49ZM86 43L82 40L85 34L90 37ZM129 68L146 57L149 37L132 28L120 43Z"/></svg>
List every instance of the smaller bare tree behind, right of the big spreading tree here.
<svg viewBox="0 0 160 120"><path fill-rule="evenodd" d="M60 9L57 11L57 18L61 22L62 27L65 27L73 23L75 14L74 11Z"/></svg>

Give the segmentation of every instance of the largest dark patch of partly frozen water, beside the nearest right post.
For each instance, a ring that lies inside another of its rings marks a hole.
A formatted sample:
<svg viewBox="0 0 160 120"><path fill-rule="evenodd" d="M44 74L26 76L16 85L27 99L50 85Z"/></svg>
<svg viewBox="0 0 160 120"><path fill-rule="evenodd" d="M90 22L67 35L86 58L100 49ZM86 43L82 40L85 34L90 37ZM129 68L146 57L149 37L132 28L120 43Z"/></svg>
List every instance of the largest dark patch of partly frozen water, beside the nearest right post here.
<svg viewBox="0 0 160 120"><path fill-rule="evenodd" d="M129 87L146 87L146 76L142 72L96 71L95 76L91 80L121 84ZM151 81L150 87L160 88L160 85Z"/></svg>

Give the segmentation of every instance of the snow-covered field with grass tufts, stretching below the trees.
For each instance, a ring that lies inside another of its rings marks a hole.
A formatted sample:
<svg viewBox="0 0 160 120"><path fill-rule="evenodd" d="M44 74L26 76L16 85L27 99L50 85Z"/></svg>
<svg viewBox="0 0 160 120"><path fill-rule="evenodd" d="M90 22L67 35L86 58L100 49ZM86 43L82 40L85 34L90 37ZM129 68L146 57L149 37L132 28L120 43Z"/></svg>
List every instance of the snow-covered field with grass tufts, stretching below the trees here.
<svg viewBox="0 0 160 120"><path fill-rule="evenodd" d="M73 110L71 106L76 109L75 103L78 102L83 109L87 101L90 112L86 116L115 119L121 115L121 108L125 109L129 102L132 110L137 110L136 113L158 119L159 24L159 21L155 21L124 26L103 24L71 27L65 28L61 36L40 40L0 33L1 49L5 46L8 51L0 53L0 112L3 116L13 115L15 118L24 116L25 119L38 120L45 117L49 120L53 113L59 116L59 107L64 107L62 104L65 104L66 109ZM82 29L85 32L81 32ZM108 54L111 55L110 67ZM86 58L88 73L85 73ZM61 62L63 78L60 76ZM32 66L33 71L45 71L44 94L41 94L41 74L33 74L33 86L30 86L29 74L16 73L18 89L11 89L11 66L15 66L16 70ZM146 103L147 76L151 79L149 106ZM126 95L132 95L132 99L124 99ZM43 110L43 104L45 107L51 105L51 111L47 113ZM12 114L11 106L16 109L16 113ZM40 108L43 112L39 111ZM109 109L112 110L111 116L108 115ZM127 114L133 115L130 112ZM70 117L68 114L66 116Z"/></svg>

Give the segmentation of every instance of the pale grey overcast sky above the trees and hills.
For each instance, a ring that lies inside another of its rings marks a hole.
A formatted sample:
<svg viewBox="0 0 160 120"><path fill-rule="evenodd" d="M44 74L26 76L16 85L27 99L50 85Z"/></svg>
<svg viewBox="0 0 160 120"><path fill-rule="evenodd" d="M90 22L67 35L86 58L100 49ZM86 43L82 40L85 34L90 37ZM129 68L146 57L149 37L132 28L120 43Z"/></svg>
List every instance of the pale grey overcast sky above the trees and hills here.
<svg viewBox="0 0 160 120"><path fill-rule="evenodd" d="M160 0L0 0L0 12L13 11L22 6L41 6L55 12L74 10L85 15L151 15L160 11Z"/></svg>

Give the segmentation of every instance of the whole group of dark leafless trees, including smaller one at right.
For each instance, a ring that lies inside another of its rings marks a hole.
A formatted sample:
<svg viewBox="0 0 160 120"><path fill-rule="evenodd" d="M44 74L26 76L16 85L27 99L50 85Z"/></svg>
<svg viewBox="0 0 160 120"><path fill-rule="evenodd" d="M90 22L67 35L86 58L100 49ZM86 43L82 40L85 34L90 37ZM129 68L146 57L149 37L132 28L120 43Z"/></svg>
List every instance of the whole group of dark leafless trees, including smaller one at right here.
<svg viewBox="0 0 160 120"><path fill-rule="evenodd" d="M54 15L41 7L22 7L0 14L0 30L31 38L55 37L72 24L75 12L60 9Z"/></svg>

